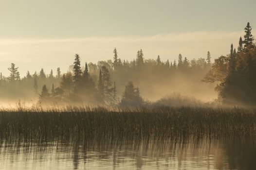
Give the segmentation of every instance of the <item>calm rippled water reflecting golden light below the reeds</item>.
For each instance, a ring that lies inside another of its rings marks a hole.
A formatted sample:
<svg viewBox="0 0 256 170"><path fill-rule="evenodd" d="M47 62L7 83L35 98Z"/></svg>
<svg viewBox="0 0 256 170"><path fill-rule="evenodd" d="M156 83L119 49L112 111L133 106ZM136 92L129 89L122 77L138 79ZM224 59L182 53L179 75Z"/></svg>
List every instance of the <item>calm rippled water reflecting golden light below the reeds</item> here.
<svg viewBox="0 0 256 170"><path fill-rule="evenodd" d="M0 141L1 170L256 170L253 138Z"/></svg>

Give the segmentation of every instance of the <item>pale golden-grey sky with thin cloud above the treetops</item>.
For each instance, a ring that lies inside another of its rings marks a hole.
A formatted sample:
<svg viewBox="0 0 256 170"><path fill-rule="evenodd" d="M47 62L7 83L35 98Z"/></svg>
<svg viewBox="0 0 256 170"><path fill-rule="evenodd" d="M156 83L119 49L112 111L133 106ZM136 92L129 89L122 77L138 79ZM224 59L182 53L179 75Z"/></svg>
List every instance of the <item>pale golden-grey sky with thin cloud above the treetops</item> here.
<svg viewBox="0 0 256 170"><path fill-rule="evenodd" d="M213 59L238 46L247 22L256 28L256 0L0 0L0 72L60 67L74 54L85 62L144 57ZM253 34L256 30L253 30Z"/></svg>

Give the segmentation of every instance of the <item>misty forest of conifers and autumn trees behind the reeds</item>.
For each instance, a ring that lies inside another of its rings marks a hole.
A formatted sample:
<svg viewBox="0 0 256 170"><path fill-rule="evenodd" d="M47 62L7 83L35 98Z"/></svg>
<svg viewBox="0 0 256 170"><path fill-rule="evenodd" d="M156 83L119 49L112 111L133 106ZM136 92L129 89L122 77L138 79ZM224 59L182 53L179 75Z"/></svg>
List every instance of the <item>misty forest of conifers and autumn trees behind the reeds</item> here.
<svg viewBox="0 0 256 170"><path fill-rule="evenodd" d="M36 98L38 104L142 105L145 100L141 89L146 98L166 94L168 90L191 88L191 91L200 91L203 79L204 82L217 82L215 90L219 101L253 104L256 101L256 48L251 30L248 23L244 40L239 39L238 51L231 45L230 54L220 56L214 63L209 51L205 58L188 60L179 54L177 60L162 61L159 55L156 59L146 59L144 51L138 50L132 61L121 60L116 48L113 60L97 64L82 65L79 54L75 54L73 65L66 73L56 68L55 74L53 69L46 74L41 68L34 74L27 71L21 78L18 67L12 63L8 77L0 73L0 98Z"/></svg>

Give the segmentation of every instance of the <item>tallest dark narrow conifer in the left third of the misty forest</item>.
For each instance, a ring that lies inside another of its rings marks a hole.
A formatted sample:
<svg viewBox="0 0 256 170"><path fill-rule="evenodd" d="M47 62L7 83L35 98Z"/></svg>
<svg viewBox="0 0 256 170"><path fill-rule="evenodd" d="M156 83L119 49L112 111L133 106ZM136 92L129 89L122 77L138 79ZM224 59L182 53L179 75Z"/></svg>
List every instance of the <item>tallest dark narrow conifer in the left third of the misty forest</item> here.
<svg viewBox="0 0 256 170"><path fill-rule="evenodd" d="M80 83L81 78L82 78L82 69L81 69L81 66L80 66L79 54L75 54L73 71L74 71L74 75L73 75L74 88L75 88L75 91L77 92L78 87L79 87L79 83Z"/></svg>

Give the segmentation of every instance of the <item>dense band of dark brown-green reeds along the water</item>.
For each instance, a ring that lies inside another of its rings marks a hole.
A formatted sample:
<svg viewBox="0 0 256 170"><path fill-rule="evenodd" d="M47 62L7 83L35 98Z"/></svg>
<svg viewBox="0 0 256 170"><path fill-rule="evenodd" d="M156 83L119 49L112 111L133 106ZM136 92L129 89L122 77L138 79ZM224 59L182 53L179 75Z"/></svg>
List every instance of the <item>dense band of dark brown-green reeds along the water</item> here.
<svg viewBox="0 0 256 170"><path fill-rule="evenodd" d="M255 136L255 110L202 107L9 108L0 137L136 139L175 136Z"/></svg>

